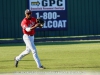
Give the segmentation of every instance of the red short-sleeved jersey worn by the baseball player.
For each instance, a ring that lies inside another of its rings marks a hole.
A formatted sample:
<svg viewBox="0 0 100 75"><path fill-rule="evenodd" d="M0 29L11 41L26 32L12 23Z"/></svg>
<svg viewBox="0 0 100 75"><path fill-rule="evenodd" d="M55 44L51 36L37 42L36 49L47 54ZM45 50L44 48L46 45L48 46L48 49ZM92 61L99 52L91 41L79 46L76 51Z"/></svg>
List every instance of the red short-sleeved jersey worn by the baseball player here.
<svg viewBox="0 0 100 75"><path fill-rule="evenodd" d="M21 22L21 26L23 29L23 33L27 34L27 35L34 35L35 34L35 30L31 30L30 32L26 31L27 27L32 27L36 24L36 18L32 17L30 20L27 18L24 18Z"/></svg>

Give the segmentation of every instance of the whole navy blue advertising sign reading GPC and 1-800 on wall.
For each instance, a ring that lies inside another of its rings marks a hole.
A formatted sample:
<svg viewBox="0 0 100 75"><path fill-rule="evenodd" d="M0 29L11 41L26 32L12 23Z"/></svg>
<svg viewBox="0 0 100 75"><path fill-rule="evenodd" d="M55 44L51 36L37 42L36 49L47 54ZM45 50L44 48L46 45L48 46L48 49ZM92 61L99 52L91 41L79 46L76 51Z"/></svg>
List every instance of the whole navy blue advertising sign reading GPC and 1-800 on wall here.
<svg viewBox="0 0 100 75"><path fill-rule="evenodd" d="M38 30L67 29L67 0L29 0L29 9L36 18L43 18L43 28Z"/></svg>

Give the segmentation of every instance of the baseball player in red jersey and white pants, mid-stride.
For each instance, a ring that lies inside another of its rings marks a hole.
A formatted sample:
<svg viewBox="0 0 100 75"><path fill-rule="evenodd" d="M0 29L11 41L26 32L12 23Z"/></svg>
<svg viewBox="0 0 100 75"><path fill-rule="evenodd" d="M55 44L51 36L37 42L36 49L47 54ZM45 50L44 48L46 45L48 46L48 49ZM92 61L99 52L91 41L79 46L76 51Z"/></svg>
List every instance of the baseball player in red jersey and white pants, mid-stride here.
<svg viewBox="0 0 100 75"><path fill-rule="evenodd" d="M23 40L26 44L26 49L19 54L18 56L15 57L15 67L18 67L19 61L27 54L32 52L33 58L37 64L37 68L39 69L45 69L41 62L40 59L37 55L37 50L34 44L34 34L35 34L35 28L37 28L40 23L37 23L37 19L32 17L32 12L29 9L25 10L25 18L21 22L21 27L23 30Z"/></svg>

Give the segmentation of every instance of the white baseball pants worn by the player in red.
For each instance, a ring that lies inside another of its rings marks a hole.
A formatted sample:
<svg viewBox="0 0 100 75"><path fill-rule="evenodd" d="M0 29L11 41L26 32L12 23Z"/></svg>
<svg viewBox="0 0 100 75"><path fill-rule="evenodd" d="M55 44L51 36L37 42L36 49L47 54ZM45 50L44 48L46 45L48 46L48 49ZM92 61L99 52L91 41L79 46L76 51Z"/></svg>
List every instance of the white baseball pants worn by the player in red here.
<svg viewBox="0 0 100 75"><path fill-rule="evenodd" d="M27 34L23 35L23 40L26 44L26 50L24 50L19 56L16 57L16 60L19 61L21 60L25 55L29 54L30 52L32 52L33 54L33 58L37 64L37 67L41 67L41 63L37 54L37 50L34 44L34 36L29 36Z"/></svg>

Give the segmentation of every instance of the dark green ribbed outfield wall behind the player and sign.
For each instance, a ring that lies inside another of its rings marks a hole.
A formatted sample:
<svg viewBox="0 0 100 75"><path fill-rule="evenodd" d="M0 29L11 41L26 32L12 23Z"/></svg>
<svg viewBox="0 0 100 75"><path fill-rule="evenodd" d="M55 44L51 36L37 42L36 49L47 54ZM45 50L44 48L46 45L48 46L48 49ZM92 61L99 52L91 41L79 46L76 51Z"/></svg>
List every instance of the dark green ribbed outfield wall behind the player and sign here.
<svg viewBox="0 0 100 75"><path fill-rule="evenodd" d="M99 35L100 0L66 1L67 29L37 30L36 37ZM28 0L0 0L0 38L22 38L20 22L28 5Z"/></svg>

